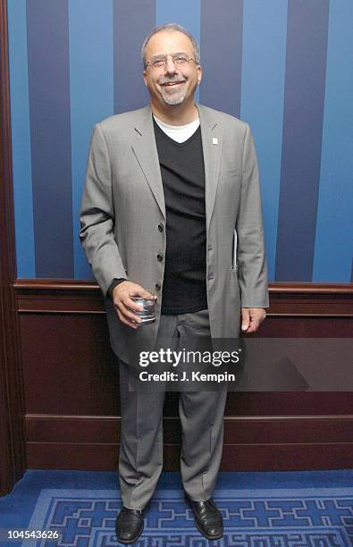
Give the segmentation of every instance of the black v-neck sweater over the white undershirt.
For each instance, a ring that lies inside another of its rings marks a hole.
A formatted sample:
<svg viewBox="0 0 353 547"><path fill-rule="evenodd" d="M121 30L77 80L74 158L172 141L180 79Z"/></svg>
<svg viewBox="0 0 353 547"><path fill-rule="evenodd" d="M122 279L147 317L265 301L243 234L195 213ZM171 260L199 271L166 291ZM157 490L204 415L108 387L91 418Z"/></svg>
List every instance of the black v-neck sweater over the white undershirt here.
<svg viewBox="0 0 353 547"><path fill-rule="evenodd" d="M176 142L154 120L166 210L162 313L206 309L205 167L201 130Z"/></svg>

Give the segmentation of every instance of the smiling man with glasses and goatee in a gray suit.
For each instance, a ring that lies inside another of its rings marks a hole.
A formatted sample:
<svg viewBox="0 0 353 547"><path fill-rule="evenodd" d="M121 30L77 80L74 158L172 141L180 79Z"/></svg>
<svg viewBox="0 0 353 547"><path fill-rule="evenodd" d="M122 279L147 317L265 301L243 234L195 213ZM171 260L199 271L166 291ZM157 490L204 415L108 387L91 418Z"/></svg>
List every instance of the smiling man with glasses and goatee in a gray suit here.
<svg viewBox="0 0 353 547"><path fill-rule="evenodd" d="M80 215L80 240L105 295L120 359L121 543L143 530L143 509L163 466L164 392L129 392L129 344L161 337L236 338L255 332L268 307L256 153L246 123L196 105L198 45L179 25L142 47L150 105L96 125ZM139 326L131 299L154 299ZM111 298L110 298L111 297ZM180 393L181 478L196 526L223 535L212 500L223 445L226 386Z"/></svg>

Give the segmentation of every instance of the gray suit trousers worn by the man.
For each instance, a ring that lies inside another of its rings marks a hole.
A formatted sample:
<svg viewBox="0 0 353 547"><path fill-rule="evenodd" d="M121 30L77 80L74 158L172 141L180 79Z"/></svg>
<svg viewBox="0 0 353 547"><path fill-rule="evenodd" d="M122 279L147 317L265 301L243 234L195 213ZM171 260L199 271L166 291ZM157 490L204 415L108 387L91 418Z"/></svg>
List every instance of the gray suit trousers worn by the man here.
<svg viewBox="0 0 353 547"><path fill-rule="evenodd" d="M172 338L182 348L183 341L192 336L210 336L207 310L161 316L157 345L158 339ZM165 391L129 391L129 367L121 360L119 372L122 502L129 509L144 509L155 492L163 468ZM226 384L218 391L180 392L181 479L191 500L206 501L214 492L223 450L226 398Z"/></svg>

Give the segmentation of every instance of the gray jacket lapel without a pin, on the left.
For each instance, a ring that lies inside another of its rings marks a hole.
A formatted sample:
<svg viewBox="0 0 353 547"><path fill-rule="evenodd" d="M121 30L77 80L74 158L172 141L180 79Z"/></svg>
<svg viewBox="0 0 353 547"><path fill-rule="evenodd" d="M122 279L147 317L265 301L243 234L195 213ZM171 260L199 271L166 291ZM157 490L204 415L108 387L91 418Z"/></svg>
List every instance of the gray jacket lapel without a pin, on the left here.
<svg viewBox="0 0 353 547"><path fill-rule="evenodd" d="M157 147L155 145L155 130L153 127L151 108L148 105L140 112L139 122L135 124L132 149L138 158L139 165L145 174L147 183L155 196L155 201L165 218L164 189Z"/></svg>

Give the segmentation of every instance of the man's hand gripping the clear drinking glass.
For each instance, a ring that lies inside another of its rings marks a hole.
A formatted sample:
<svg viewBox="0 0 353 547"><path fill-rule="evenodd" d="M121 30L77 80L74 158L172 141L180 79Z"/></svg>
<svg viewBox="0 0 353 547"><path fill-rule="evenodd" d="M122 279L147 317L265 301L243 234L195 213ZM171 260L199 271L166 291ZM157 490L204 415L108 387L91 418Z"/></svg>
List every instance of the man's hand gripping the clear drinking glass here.
<svg viewBox="0 0 353 547"><path fill-rule="evenodd" d="M142 297L147 300L155 300L157 297L148 292L138 283L122 282L113 290L113 304L119 319L132 329L138 329L141 319L131 309L142 311L142 307L136 304L130 297Z"/></svg>

